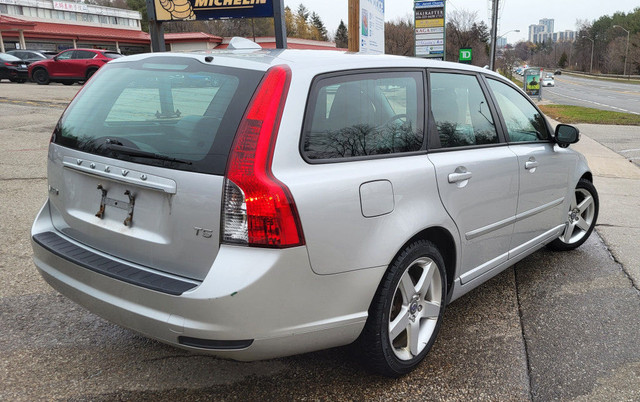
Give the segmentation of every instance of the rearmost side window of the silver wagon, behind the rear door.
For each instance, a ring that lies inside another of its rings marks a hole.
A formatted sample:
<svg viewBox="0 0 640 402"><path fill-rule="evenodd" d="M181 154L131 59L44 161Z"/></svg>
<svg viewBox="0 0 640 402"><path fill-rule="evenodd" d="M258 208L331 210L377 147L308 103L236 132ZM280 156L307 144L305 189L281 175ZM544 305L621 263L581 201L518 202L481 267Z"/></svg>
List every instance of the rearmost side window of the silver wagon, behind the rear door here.
<svg viewBox="0 0 640 402"><path fill-rule="evenodd" d="M304 124L308 160L370 157L422 149L422 73L363 73L317 80Z"/></svg>

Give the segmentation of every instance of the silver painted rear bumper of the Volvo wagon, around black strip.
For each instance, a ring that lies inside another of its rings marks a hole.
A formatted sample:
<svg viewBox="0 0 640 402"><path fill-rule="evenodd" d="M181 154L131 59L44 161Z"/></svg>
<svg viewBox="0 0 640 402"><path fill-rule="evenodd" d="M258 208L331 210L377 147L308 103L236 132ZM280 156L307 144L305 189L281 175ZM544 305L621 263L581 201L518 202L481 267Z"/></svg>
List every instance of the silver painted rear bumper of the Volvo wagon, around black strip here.
<svg viewBox="0 0 640 402"><path fill-rule="evenodd" d="M34 222L32 236L45 232L56 232L48 202ZM274 250L223 245L206 278L174 295L87 269L35 240L32 245L43 278L90 311L150 338L236 360L285 356L354 341L385 270L317 275L305 247Z"/></svg>

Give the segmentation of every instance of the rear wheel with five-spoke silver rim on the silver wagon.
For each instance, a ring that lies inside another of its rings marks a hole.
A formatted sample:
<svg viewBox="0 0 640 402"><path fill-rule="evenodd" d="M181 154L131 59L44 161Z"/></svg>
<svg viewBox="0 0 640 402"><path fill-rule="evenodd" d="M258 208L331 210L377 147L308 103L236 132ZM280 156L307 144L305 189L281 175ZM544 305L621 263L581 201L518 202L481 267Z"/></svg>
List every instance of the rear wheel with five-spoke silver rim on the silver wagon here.
<svg viewBox="0 0 640 402"><path fill-rule="evenodd" d="M417 240L395 257L358 340L371 370L399 377L425 358L442 324L446 283L444 261L433 243Z"/></svg>

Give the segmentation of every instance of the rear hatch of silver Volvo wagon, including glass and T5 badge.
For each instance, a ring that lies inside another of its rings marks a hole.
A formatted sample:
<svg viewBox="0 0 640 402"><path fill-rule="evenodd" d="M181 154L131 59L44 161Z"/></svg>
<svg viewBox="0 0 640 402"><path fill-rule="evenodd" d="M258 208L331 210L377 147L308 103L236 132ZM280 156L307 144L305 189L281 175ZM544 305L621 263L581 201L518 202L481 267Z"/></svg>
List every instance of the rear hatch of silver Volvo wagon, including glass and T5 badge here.
<svg viewBox="0 0 640 402"><path fill-rule="evenodd" d="M229 148L263 71L188 57L109 63L58 123L53 224L98 251L204 279Z"/></svg>

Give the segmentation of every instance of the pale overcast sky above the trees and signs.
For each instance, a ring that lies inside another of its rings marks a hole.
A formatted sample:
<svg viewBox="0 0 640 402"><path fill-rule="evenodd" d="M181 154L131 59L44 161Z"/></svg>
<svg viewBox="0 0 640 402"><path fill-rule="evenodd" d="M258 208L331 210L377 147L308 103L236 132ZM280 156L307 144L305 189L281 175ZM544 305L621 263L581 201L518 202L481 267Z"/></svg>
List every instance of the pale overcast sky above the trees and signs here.
<svg viewBox="0 0 640 402"><path fill-rule="evenodd" d="M348 0L284 0L285 6L296 10L302 3L315 11L324 21L327 30L333 34L340 20L347 23ZM555 31L576 30L577 19L596 20L603 15L612 15L616 11L629 13L640 7L639 0L499 0L501 12L499 34L519 29L520 32L507 34L509 43L528 39L529 25L537 24L542 18L555 19ZM489 0L447 0L447 13L453 10L477 11L478 19L491 27ZM411 15L413 18L413 0L386 0L385 20Z"/></svg>

